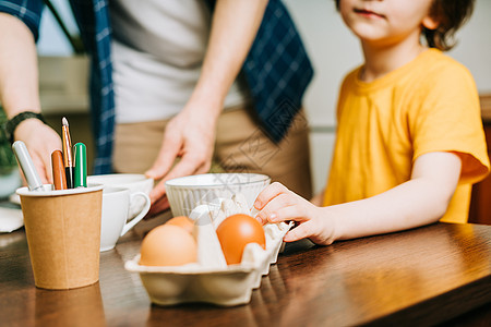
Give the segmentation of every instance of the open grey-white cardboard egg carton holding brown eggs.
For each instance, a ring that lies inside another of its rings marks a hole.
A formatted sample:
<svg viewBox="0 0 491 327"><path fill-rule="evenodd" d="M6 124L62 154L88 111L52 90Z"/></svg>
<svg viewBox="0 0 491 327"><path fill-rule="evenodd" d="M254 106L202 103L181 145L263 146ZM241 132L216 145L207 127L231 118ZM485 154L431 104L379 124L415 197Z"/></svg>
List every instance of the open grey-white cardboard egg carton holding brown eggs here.
<svg viewBox="0 0 491 327"><path fill-rule="evenodd" d="M182 266L142 266L140 255L125 263L127 270L139 272L151 301L159 305L206 302L221 306L249 303L261 277L270 274L283 249L283 238L291 225L265 225L266 249L256 243L246 246L238 265L227 265L215 232L216 227L235 214L253 216L240 194L196 206L190 218L197 243L197 262Z"/></svg>

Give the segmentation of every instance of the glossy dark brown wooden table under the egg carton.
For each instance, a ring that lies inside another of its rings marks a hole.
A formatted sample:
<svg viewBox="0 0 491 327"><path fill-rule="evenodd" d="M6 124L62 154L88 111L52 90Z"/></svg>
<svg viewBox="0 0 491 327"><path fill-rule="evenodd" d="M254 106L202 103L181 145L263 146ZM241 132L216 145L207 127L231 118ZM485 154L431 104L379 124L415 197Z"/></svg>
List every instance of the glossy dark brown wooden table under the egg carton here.
<svg viewBox="0 0 491 327"><path fill-rule="evenodd" d="M139 223L140 225L140 223ZM436 223L314 246L288 244L248 305L152 305L136 229L101 253L98 283L34 287L23 230L0 235L1 326L490 326L491 226ZM470 313L467 313L470 312ZM466 314L467 313L467 314Z"/></svg>

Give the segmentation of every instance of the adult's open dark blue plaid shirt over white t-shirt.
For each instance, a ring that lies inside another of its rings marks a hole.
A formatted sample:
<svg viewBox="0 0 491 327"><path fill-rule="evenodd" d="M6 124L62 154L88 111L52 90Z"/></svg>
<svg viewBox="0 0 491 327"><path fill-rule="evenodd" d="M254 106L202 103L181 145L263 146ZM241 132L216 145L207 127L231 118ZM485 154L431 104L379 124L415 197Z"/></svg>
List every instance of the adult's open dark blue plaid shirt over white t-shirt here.
<svg viewBox="0 0 491 327"><path fill-rule="evenodd" d="M111 172L115 95L108 2L71 0L82 39L91 55L91 109L96 140L94 173ZM208 3L214 5L213 0ZM41 0L0 0L0 12L21 19L38 38ZM280 0L271 0L243 64L259 121L279 142L301 107L313 70L297 29Z"/></svg>

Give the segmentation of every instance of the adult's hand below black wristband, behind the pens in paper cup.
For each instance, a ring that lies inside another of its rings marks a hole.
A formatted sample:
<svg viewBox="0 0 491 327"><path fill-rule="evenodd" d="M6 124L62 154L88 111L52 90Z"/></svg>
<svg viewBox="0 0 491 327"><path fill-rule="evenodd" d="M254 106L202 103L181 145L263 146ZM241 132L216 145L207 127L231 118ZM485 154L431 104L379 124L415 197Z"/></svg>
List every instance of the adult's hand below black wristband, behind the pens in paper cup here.
<svg viewBox="0 0 491 327"><path fill-rule="evenodd" d="M15 140L25 143L43 183L52 183L51 153L61 149L60 136L37 119L27 119L15 129Z"/></svg>

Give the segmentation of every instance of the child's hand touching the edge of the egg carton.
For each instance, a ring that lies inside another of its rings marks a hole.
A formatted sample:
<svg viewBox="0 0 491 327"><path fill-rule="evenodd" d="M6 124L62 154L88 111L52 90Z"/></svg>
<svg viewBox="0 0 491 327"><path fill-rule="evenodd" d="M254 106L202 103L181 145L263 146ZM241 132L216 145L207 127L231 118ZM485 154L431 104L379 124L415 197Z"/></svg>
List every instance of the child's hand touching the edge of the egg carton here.
<svg viewBox="0 0 491 327"><path fill-rule="evenodd" d="M299 222L285 235L285 242L309 238L316 244L328 245L334 241L334 220L326 217L327 208L314 206L280 183L273 183L263 190L254 207L260 210L255 218L263 225L285 220Z"/></svg>

